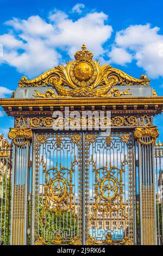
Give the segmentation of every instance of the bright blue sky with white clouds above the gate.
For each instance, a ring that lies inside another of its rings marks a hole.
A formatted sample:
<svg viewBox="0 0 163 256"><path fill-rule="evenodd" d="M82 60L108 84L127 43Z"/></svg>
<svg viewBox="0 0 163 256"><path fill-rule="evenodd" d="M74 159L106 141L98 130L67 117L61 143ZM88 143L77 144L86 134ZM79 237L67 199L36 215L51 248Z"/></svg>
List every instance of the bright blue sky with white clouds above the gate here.
<svg viewBox="0 0 163 256"><path fill-rule="evenodd" d="M147 74L163 95L162 8L158 0L0 0L0 97L10 97L22 75L33 78L73 58L83 43L101 63L137 78ZM0 118L7 136L12 118L2 109Z"/></svg>

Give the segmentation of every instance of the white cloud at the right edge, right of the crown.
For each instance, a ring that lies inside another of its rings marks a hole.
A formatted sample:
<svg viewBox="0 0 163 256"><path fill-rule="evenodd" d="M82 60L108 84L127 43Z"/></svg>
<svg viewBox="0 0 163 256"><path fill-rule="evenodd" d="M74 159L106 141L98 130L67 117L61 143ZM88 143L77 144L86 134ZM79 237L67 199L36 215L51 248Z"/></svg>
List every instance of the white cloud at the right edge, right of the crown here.
<svg viewBox="0 0 163 256"><path fill-rule="evenodd" d="M111 61L124 65L135 59L137 66L143 68L149 77L163 76L163 35L159 34L159 30L147 24L129 26L117 32L110 53ZM122 51L119 57L115 48Z"/></svg>

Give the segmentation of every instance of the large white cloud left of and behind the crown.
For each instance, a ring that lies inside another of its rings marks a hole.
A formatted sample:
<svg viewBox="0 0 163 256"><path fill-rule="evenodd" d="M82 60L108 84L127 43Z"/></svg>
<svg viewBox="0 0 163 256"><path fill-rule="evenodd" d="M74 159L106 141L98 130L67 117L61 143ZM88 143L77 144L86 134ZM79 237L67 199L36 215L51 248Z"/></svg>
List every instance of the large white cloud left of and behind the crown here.
<svg viewBox="0 0 163 256"><path fill-rule="evenodd" d="M18 72L32 78L64 61L60 51L73 58L83 43L95 57L102 58L103 44L112 33L112 27L105 25L107 19L102 12L92 12L73 21L66 13L53 10L49 13L49 22L39 16L6 21L5 25L11 29L8 34L0 35L3 45L0 63L14 66Z"/></svg>

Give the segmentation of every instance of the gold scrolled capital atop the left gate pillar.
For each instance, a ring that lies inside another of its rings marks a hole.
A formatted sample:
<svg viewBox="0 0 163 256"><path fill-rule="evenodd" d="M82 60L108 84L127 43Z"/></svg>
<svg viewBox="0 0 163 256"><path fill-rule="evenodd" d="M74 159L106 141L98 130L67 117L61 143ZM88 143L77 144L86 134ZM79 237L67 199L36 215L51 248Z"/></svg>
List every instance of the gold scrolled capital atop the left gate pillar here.
<svg viewBox="0 0 163 256"><path fill-rule="evenodd" d="M8 137L9 139L12 139L13 143L15 145L19 146L23 146L26 144L30 145L30 140L33 137L33 132L30 128L10 128L10 131L8 133ZM26 139L26 141L24 142L17 142L16 139L17 138L24 138Z"/></svg>

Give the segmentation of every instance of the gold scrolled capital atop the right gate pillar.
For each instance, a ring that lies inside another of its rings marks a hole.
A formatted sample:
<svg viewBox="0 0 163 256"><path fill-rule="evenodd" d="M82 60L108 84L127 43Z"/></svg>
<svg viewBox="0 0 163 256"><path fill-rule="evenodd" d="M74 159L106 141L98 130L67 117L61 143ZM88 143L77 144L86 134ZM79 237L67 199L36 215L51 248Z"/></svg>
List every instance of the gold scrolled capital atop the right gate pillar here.
<svg viewBox="0 0 163 256"><path fill-rule="evenodd" d="M151 145L156 142L156 139L159 136L159 131L156 126L138 126L135 129L134 136L137 139L137 144L141 143L143 145ZM149 137L150 141L146 141L143 138Z"/></svg>

